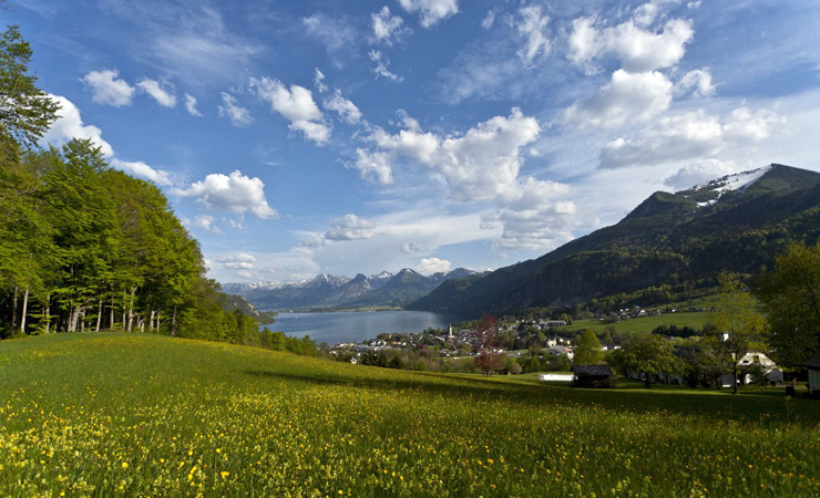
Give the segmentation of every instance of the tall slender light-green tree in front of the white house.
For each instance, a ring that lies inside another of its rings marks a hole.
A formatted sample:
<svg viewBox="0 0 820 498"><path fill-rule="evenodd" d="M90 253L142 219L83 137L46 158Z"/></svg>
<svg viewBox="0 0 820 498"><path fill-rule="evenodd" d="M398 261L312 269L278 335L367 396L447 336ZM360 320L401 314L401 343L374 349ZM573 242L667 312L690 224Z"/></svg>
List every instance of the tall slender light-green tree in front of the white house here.
<svg viewBox="0 0 820 498"><path fill-rule="evenodd" d="M762 340L767 323L757 311L757 302L748 292L742 291L736 276L724 273L719 281L718 310L709 320L715 332L704 338L704 341L731 370L732 392L737 394L740 361L750 351L765 349Z"/></svg>

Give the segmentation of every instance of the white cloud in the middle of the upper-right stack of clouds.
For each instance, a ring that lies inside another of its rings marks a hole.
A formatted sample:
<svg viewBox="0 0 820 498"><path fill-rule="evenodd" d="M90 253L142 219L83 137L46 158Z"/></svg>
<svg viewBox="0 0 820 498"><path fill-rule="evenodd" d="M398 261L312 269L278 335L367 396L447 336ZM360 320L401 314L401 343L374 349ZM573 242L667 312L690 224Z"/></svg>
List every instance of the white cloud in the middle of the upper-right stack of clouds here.
<svg viewBox="0 0 820 498"><path fill-rule="evenodd" d="M633 74L619 69L596 95L565 110L563 118L582 127L601 128L646 122L669 108L672 91L673 84L663 73Z"/></svg>

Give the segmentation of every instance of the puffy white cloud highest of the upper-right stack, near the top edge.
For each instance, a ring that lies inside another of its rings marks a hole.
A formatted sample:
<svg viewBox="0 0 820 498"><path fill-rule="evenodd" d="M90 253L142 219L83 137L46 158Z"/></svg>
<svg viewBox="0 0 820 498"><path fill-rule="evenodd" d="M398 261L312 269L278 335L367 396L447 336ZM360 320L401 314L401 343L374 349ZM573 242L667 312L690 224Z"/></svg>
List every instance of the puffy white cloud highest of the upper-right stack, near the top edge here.
<svg viewBox="0 0 820 498"><path fill-rule="evenodd" d="M597 27L598 20L578 18L568 37L567 59L590 70L593 60L615 55L625 71L642 73L672 68L683 59L695 31L691 22L673 19L653 31L631 19L614 28Z"/></svg>

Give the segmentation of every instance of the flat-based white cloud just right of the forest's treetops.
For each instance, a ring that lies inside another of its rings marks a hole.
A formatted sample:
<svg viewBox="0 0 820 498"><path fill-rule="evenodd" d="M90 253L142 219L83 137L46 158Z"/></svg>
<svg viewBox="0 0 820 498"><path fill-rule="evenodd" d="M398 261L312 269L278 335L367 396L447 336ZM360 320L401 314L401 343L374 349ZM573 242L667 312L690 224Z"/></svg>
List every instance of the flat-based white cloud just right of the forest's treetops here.
<svg viewBox="0 0 820 498"><path fill-rule="evenodd" d="M218 211L237 215L253 212L263 219L278 217L265 198L265 184L259 178L243 175L238 169L230 175L207 175L204 180L196 181L186 189L173 189L172 194L195 197L198 203Z"/></svg>

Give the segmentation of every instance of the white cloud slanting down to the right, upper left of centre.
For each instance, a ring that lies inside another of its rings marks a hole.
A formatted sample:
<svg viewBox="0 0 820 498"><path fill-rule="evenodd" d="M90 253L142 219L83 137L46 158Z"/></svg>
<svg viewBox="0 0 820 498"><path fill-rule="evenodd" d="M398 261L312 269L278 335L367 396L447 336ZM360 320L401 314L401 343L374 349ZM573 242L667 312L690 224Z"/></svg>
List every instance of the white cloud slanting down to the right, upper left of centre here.
<svg viewBox="0 0 820 498"><path fill-rule="evenodd" d="M288 89L280 81L269 77L252 77L250 87L259 98L270 104L273 112L290 122L290 129L301 132L317 145L327 143L330 128L324 123L325 116L308 89L299 85L290 85Z"/></svg>

